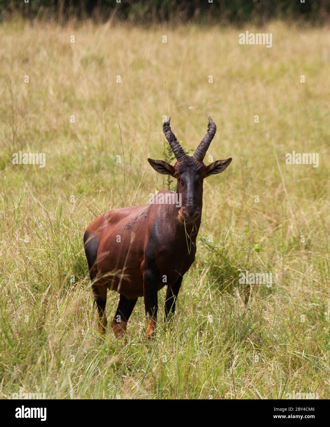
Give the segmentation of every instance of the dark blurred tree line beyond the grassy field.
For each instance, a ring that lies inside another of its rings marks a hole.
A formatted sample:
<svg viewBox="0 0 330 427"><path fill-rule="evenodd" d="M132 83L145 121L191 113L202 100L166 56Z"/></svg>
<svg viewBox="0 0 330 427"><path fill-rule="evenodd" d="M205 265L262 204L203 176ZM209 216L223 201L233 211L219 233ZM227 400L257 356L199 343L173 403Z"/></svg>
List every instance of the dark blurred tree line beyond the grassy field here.
<svg viewBox="0 0 330 427"><path fill-rule="evenodd" d="M0 0L0 19L18 13L26 18L128 20L133 23L266 22L270 18L324 23L329 0Z"/></svg>

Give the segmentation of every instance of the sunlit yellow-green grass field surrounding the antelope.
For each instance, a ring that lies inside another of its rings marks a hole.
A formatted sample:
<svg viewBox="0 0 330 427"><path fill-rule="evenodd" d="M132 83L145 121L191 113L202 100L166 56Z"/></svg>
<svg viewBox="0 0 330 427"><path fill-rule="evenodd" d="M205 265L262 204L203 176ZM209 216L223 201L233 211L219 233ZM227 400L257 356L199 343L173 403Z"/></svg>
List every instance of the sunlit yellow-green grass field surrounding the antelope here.
<svg viewBox="0 0 330 427"><path fill-rule="evenodd" d="M272 47L240 45L246 30ZM0 396L329 398L329 28L12 20L0 39ZM192 150L209 115L205 163L233 161L204 182L175 318L165 330L163 288L151 341L143 298L124 339L101 337L84 231L174 185L147 162L167 153L163 120ZM20 151L45 167L13 164Z"/></svg>

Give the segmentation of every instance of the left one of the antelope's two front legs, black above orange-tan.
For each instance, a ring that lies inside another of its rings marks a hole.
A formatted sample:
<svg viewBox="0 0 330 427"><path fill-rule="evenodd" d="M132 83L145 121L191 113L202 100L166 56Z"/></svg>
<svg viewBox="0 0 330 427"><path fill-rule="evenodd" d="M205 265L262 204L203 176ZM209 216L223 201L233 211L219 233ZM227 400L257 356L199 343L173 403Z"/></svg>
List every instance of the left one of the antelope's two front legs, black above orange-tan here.
<svg viewBox="0 0 330 427"><path fill-rule="evenodd" d="M143 275L143 294L145 298L145 314L147 316L145 337L150 339L156 328L158 310L157 277L151 270L146 270Z"/></svg>

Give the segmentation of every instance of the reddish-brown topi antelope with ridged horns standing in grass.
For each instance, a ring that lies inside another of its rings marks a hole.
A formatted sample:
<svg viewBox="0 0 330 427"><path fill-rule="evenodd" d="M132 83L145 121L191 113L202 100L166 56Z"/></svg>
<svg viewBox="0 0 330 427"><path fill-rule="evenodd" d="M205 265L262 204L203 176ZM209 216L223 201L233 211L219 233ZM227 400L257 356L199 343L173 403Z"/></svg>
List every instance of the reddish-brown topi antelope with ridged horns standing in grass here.
<svg viewBox="0 0 330 427"><path fill-rule="evenodd" d="M194 262L196 237L200 228L203 204L203 180L226 169L231 158L216 160L206 166L203 159L216 132L208 118L207 134L194 155L188 156L171 131L170 118L163 132L177 159L174 166L163 160L148 158L156 172L177 179L177 190L162 190L180 196L182 205L149 204L113 209L97 218L85 231L84 248L98 309L99 331L107 326L105 304L107 289L120 294L111 323L116 337L127 327L138 297L144 297L147 328L151 337L156 327L157 292L167 285L165 319L175 310L183 275Z"/></svg>

